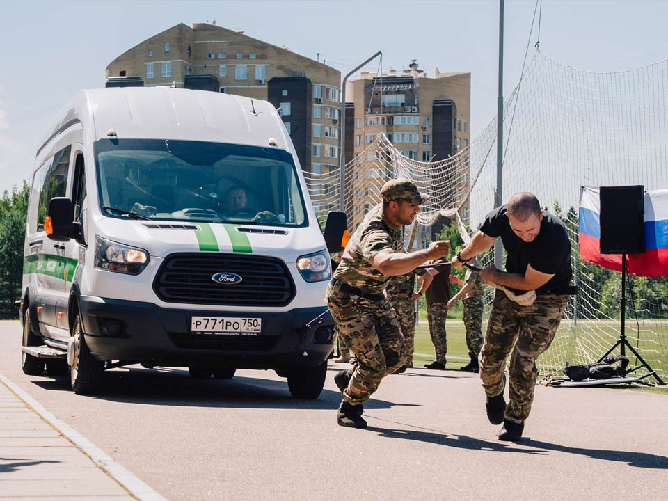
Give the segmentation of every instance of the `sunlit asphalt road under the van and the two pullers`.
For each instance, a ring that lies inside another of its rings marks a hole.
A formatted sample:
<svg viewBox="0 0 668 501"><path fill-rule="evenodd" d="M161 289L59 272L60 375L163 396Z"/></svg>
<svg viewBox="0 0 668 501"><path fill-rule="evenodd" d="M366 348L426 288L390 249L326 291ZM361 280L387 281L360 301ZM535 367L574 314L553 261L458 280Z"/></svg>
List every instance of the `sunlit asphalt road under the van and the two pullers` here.
<svg viewBox="0 0 668 501"><path fill-rule="evenodd" d="M114 369L99 397L25 376L21 331L0 322L0 373L170 500L665 499L668 396L536 388L521 444L498 441L474 374L409 369L338 427L332 366L315 401L273 372L231 381ZM341 367L344 367L341 365Z"/></svg>

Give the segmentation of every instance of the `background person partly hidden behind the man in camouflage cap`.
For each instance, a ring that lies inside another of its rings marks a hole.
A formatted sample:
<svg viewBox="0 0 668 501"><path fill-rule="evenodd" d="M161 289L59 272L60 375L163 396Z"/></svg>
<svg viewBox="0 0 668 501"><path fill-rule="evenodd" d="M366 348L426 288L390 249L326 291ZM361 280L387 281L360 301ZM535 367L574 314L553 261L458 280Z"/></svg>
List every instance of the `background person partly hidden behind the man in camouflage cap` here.
<svg viewBox="0 0 668 501"><path fill-rule="evenodd" d="M418 289L415 292L415 276L417 276ZM392 277L388 288L385 289L392 308L395 309L395 316L401 328L401 334L404 335L406 344L406 362L395 374L405 372L409 367L413 367L413 353L415 352L415 302L422 297L424 291L431 285L431 273L425 269L409 271L405 275Z"/></svg>

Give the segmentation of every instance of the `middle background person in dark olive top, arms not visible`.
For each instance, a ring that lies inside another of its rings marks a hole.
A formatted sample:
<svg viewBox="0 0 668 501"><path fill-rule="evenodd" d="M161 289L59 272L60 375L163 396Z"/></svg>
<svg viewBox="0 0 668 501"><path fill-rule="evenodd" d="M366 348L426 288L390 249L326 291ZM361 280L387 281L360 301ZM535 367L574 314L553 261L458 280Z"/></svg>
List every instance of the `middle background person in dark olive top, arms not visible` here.
<svg viewBox="0 0 668 501"><path fill-rule="evenodd" d="M435 261L434 264L440 262L447 262L447 260L443 258ZM434 351L436 351L436 359L434 362L424 364L424 367L445 370L445 354L447 353L445 319L447 318L447 300L450 297L450 267L431 268L429 273L434 276L434 280L431 282L431 287L427 289L427 320L431 342L434 343Z"/></svg>

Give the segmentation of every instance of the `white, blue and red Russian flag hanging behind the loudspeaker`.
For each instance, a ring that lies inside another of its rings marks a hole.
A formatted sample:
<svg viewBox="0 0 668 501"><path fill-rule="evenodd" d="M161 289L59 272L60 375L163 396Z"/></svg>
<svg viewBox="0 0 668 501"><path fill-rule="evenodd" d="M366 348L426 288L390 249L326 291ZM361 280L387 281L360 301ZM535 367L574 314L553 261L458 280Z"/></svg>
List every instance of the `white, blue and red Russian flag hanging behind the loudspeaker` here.
<svg viewBox="0 0 668 501"><path fill-rule="evenodd" d="M580 188L580 256L605 268L621 271L621 255L601 254L601 204L598 188ZM628 273L668 276L668 189L645 192L645 252L626 256Z"/></svg>

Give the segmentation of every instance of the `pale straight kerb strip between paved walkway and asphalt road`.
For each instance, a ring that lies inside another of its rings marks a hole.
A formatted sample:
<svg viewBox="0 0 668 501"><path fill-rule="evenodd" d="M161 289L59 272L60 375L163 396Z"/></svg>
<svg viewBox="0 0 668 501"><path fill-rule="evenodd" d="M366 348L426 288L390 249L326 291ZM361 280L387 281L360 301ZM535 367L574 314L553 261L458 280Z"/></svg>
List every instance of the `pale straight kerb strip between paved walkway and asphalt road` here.
<svg viewBox="0 0 668 501"><path fill-rule="evenodd" d="M47 411L45 406L42 406L37 400L33 399L28 393L24 392L18 385L10 381L3 374L0 373L0 381L9 388L19 399L22 399L27 406L29 406L35 413L37 413L42 420L45 420L51 427L61 433L65 438L69 439L74 445L79 447L81 452L100 467L104 472L113 478L120 485L125 487L127 491L134 495L140 501L168 501L162 495L153 490L152 487L145 484L140 479L135 477L131 472L116 463L111 457L106 454L100 447L97 447L88 438L79 434L74 428L70 427L65 421L59 420L56 416Z"/></svg>

